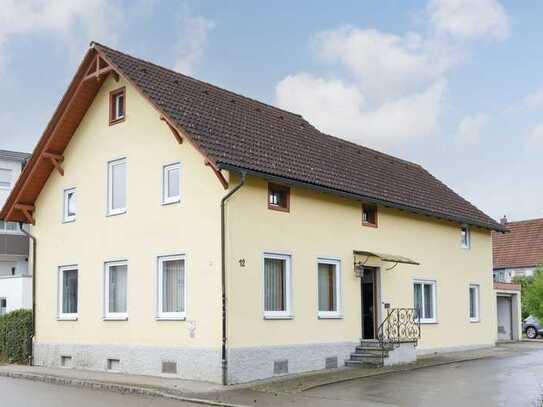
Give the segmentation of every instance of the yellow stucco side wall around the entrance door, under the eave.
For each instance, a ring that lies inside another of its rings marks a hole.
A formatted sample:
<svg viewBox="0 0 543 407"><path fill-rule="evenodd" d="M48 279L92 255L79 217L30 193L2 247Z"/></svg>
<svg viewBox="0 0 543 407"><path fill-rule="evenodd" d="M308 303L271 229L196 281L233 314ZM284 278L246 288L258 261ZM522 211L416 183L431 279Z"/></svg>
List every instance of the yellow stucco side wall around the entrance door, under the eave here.
<svg viewBox="0 0 543 407"><path fill-rule="evenodd" d="M424 325L420 349L491 345L496 339L490 233L471 231L460 247L460 226L379 208L379 227L361 225L360 203L291 189L290 213L267 208L267 184L249 177L228 206L229 340L232 347L357 341L361 336L360 280L353 250L410 257L420 266L381 267L382 301L413 306L413 280L437 282L437 323ZM263 318L263 253L290 254L292 320ZM318 257L341 259L343 319L317 318ZM239 260L245 259L245 267ZM481 321L469 321L469 284L480 285Z"/></svg>

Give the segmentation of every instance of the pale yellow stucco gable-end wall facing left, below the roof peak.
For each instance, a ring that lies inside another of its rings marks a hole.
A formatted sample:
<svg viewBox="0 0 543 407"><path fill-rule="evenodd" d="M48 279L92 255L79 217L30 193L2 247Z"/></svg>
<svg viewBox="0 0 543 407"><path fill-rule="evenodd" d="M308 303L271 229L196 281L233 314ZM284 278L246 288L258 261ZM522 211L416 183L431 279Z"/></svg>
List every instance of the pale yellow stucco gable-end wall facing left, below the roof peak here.
<svg viewBox="0 0 543 407"><path fill-rule="evenodd" d="M109 92L127 86L126 121L108 122ZM225 191L188 142L179 145L134 88L108 79L36 202L37 341L220 344L220 199ZM106 216L107 163L126 157L128 211ZM162 167L181 162L181 202L161 204ZM77 220L63 224L62 194L77 188ZM187 321L157 321L157 256L187 255ZM103 269L128 260L128 320L103 321ZM57 321L57 267L79 265L79 320ZM188 321L195 321L191 338Z"/></svg>

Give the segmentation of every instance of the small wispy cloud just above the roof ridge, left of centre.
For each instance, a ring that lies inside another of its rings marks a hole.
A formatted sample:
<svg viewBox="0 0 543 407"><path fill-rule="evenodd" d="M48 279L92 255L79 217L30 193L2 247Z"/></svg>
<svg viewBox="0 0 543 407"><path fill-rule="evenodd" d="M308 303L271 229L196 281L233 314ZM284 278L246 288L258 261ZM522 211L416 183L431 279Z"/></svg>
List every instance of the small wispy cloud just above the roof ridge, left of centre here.
<svg viewBox="0 0 543 407"><path fill-rule="evenodd" d="M209 32L215 23L202 16L193 16L188 7L184 7L178 17L180 27L179 44L175 69L191 75L202 59Z"/></svg>

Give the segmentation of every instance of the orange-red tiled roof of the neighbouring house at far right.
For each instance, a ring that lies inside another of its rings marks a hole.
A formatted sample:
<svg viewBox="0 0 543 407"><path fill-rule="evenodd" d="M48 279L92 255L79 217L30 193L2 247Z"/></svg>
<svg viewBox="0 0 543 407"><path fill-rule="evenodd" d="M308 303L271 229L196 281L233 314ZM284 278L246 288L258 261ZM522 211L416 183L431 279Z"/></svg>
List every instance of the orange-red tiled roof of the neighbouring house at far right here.
<svg viewBox="0 0 543 407"><path fill-rule="evenodd" d="M494 268L535 267L543 263L543 218L508 222L510 233L492 233Z"/></svg>

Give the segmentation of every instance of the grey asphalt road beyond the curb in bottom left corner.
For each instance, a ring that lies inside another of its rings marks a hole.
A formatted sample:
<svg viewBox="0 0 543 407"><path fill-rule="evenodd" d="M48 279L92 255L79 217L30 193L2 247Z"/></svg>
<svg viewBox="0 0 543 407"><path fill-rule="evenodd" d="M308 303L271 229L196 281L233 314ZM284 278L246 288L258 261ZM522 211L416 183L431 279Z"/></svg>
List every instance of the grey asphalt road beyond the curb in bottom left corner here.
<svg viewBox="0 0 543 407"><path fill-rule="evenodd" d="M0 377L0 406L194 407L196 404Z"/></svg>

